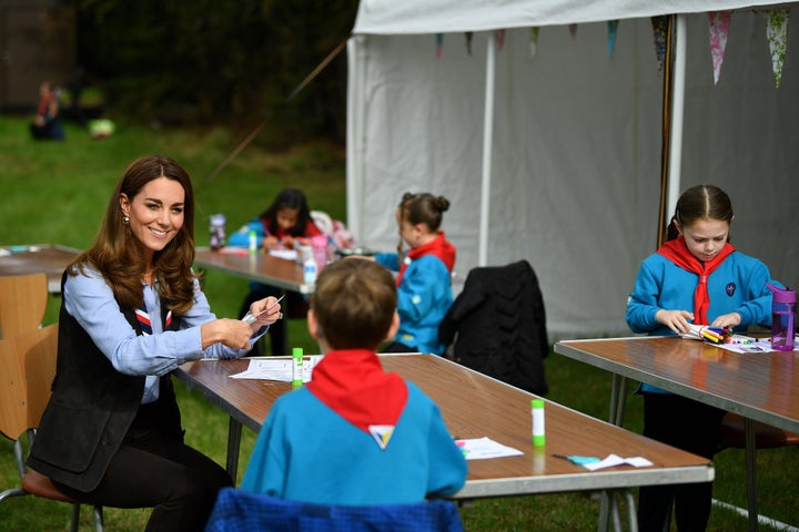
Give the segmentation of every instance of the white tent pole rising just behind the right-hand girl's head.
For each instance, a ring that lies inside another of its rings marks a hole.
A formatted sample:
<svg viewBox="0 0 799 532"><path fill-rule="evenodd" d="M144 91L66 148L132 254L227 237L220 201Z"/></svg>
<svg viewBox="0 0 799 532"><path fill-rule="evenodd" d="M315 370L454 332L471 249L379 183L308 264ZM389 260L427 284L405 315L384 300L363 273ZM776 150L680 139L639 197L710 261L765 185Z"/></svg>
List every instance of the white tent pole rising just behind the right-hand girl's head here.
<svg viewBox="0 0 799 532"><path fill-rule="evenodd" d="M682 127L685 116L685 84L686 84L686 55L687 50L687 16L677 16L675 31L675 62L674 62L674 91L671 100L671 141L668 165L668 205L667 213L674 214L677 200L680 195L680 168L682 164ZM664 224L666 227L668 224Z"/></svg>

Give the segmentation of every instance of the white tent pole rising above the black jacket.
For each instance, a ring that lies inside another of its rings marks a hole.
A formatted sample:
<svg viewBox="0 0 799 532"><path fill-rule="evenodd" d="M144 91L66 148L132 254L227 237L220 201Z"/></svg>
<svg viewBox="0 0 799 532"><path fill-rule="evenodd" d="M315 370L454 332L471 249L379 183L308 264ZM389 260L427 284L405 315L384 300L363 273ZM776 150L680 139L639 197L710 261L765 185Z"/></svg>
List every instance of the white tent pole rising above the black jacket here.
<svg viewBox="0 0 799 532"><path fill-rule="evenodd" d="M486 50L486 94L483 121L483 180L481 187L479 247L477 265L488 264L488 218L490 209L492 147L494 140L494 84L496 68L496 42L494 33L488 33Z"/></svg>

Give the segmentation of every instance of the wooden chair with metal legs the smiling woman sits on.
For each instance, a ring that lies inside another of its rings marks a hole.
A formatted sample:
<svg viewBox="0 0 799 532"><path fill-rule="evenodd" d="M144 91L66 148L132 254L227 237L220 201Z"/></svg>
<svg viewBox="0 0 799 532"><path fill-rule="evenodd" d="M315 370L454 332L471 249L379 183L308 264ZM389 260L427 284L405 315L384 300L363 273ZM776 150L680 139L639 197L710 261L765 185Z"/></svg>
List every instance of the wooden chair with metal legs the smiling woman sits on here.
<svg viewBox="0 0 799 532"><path fill-rule="evenodd" d="M36 429L50 399L55 376L58 324L33 329L13 338L0 339L0 432L13 441L21 487L0 492L0 502L12 497L32 494L72 504L72 526L78 530L80 503L61 493L50 479L26 468L26 452L33 443ZM103 530L102 507L94 507L94 529Z"/></svg>

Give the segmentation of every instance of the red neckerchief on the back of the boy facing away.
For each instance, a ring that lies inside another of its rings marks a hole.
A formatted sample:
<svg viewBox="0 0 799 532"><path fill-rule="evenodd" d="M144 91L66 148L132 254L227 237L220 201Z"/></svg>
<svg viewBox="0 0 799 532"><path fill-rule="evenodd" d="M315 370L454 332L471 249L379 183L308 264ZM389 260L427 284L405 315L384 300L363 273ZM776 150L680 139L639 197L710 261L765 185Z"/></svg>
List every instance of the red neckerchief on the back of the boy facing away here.
<svg viewBox="0 0 799 532"><path fill-rule="evenodd" d="M358 429L395 426L407 402L407 386L397 374L383 371L370 349L327 352L314 366L307 389Z"/></svg>

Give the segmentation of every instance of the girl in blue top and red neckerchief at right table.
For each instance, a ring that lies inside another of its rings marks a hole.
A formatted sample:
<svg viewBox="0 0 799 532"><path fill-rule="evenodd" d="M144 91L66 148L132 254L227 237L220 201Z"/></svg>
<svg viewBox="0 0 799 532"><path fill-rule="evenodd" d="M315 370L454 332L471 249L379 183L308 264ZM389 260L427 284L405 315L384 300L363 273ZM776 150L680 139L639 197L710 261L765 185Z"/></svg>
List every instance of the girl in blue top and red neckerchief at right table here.
<svg viewBox="0 0 799 532"><path fill-rule="evenodd" d="M768 267L729 243L729 196L712 185L688 188L677 202L669 241L644 260L627 304L634 332L651 336L688 332L689 325L746 330L771 324ZM644 436L712 458L725 412L649 385L644 396ZM671 504L678 530L705 530L712 483L645 487L638 530L668 530Z"/></svg>

